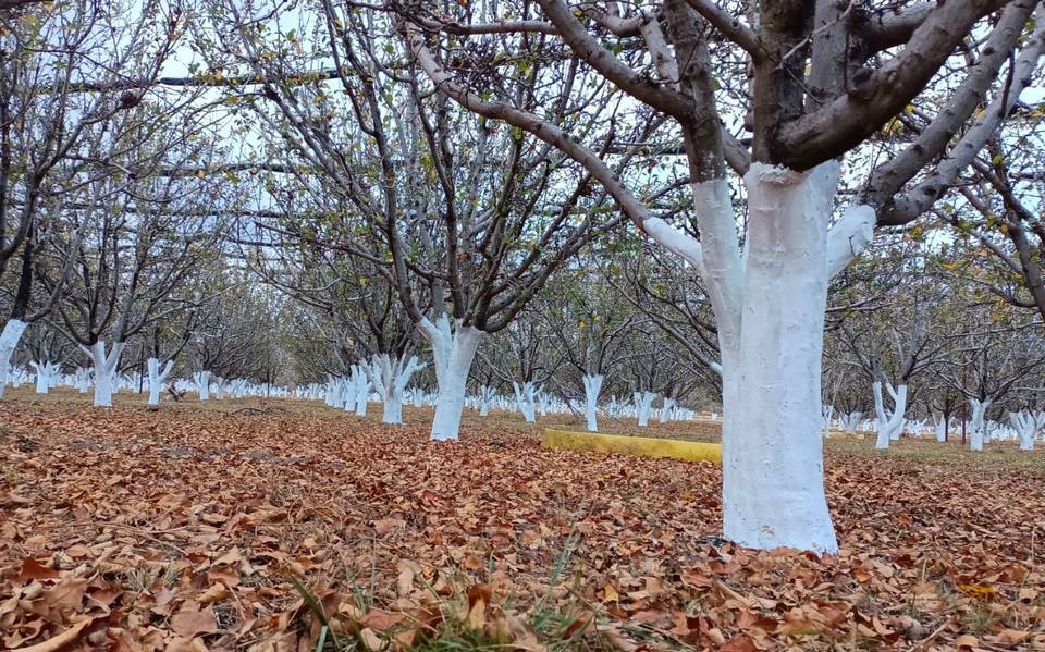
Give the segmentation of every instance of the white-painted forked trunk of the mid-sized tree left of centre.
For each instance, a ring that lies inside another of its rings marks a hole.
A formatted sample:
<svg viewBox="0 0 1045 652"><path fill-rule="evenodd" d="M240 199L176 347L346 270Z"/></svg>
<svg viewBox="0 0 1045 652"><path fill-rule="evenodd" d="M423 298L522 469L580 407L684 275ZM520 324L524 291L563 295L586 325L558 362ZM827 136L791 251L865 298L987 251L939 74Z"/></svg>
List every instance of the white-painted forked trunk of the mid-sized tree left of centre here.
<svg viewBox="0 0 1045 652"><path fill-rule="evenodd" d="M466 327L458 320L451 329L450 319L441 315L433 323L425 318L418 324L432 345L435 365L435 417L432 419L433 441L456 441L460 435L460 416L465 409L465 390L468 373L482 340L482 331Z"/></svg>

